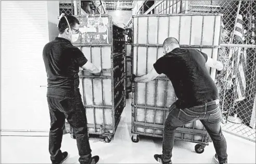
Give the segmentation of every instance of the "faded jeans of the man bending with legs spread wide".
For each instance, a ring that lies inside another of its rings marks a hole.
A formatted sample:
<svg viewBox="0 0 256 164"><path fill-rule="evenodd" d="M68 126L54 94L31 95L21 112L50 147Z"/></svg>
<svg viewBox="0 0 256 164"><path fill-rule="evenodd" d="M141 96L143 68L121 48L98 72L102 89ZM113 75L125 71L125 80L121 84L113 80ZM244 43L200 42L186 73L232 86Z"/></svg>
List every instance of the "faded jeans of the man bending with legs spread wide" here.
<svg viewBox="0 0 256 164"><path fill-rule="evenodd" d="M163 161L171 160L176 128L200 120L212 139L219 162L227 162L227 143L222 134L221 119L219 100L184 109L173 103L164 125Z"/></svg>

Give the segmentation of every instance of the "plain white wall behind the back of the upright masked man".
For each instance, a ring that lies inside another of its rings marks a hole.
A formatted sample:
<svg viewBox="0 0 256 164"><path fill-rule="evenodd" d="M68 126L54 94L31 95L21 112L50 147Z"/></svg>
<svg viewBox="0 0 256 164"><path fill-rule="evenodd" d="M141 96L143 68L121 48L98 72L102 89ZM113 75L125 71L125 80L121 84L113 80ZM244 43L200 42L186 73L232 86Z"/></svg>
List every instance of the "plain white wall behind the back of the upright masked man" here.
<svg viewBox="0 0 256 164"><path fill-rule="evenodd" d="M53 26L48 22L58 21L59 5L56 4L47 1L2 2L2 131L49 130L47 77L42 50L49 42L49 34L55 34L49 31ZM54 7L57 7L56 12L53 12ZM48 8L52 10L50 15ZM53 19L48 21L49 16Z"/></svg>

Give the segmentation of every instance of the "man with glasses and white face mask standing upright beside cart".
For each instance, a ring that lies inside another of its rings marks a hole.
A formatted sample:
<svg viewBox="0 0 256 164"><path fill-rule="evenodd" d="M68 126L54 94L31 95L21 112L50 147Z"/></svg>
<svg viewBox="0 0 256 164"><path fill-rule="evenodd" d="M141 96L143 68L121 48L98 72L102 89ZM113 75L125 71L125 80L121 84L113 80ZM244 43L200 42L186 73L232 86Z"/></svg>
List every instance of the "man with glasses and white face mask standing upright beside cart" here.
<svg viewBox="0 0 256 164"><path fill-rule="evenodd" d="M47 101L50 112L49 153L52 163L62 163L68 158L61 152L61 141L65 119L74 129L82 164L97 163L98 156L92 157L88 141L87 119L79 91L79 67L100 73L101 68L87 61L82 51L71 42L78 39L79 21L73 16L61 15L59 35L43 49L43 60L47 73Z"/></svg>

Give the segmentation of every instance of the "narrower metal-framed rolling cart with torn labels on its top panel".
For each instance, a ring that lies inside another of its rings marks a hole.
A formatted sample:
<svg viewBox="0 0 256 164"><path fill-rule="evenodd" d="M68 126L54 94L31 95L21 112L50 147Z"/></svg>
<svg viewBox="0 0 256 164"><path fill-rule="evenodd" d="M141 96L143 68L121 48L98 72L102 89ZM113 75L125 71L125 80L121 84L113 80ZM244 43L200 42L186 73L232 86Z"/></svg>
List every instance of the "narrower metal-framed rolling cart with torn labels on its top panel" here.
<svg viewBox="0 0 256 164"><path fill-rule="evenodd" d="M124 29L114 25L109 15L76 18L80 21L80 33L73 45L88 61L102 69L100 75L80 70L79 88L88 132L108 136L109 141L125 106Z"/></svg>

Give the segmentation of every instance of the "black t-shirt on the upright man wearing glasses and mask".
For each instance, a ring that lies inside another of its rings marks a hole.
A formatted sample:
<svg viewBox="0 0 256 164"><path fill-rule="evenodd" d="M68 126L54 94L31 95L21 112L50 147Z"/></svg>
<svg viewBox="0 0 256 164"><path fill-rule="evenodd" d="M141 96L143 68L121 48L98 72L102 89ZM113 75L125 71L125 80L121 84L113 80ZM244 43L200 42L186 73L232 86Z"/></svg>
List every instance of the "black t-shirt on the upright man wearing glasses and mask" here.
<svg viewBox="0 0 256 164"><path fill-rule="evenodd" d="M65 38L56 37L44 46L47 73L47 97L70 98L79 93L79 67L87 59L83 52Z"/></svg>

